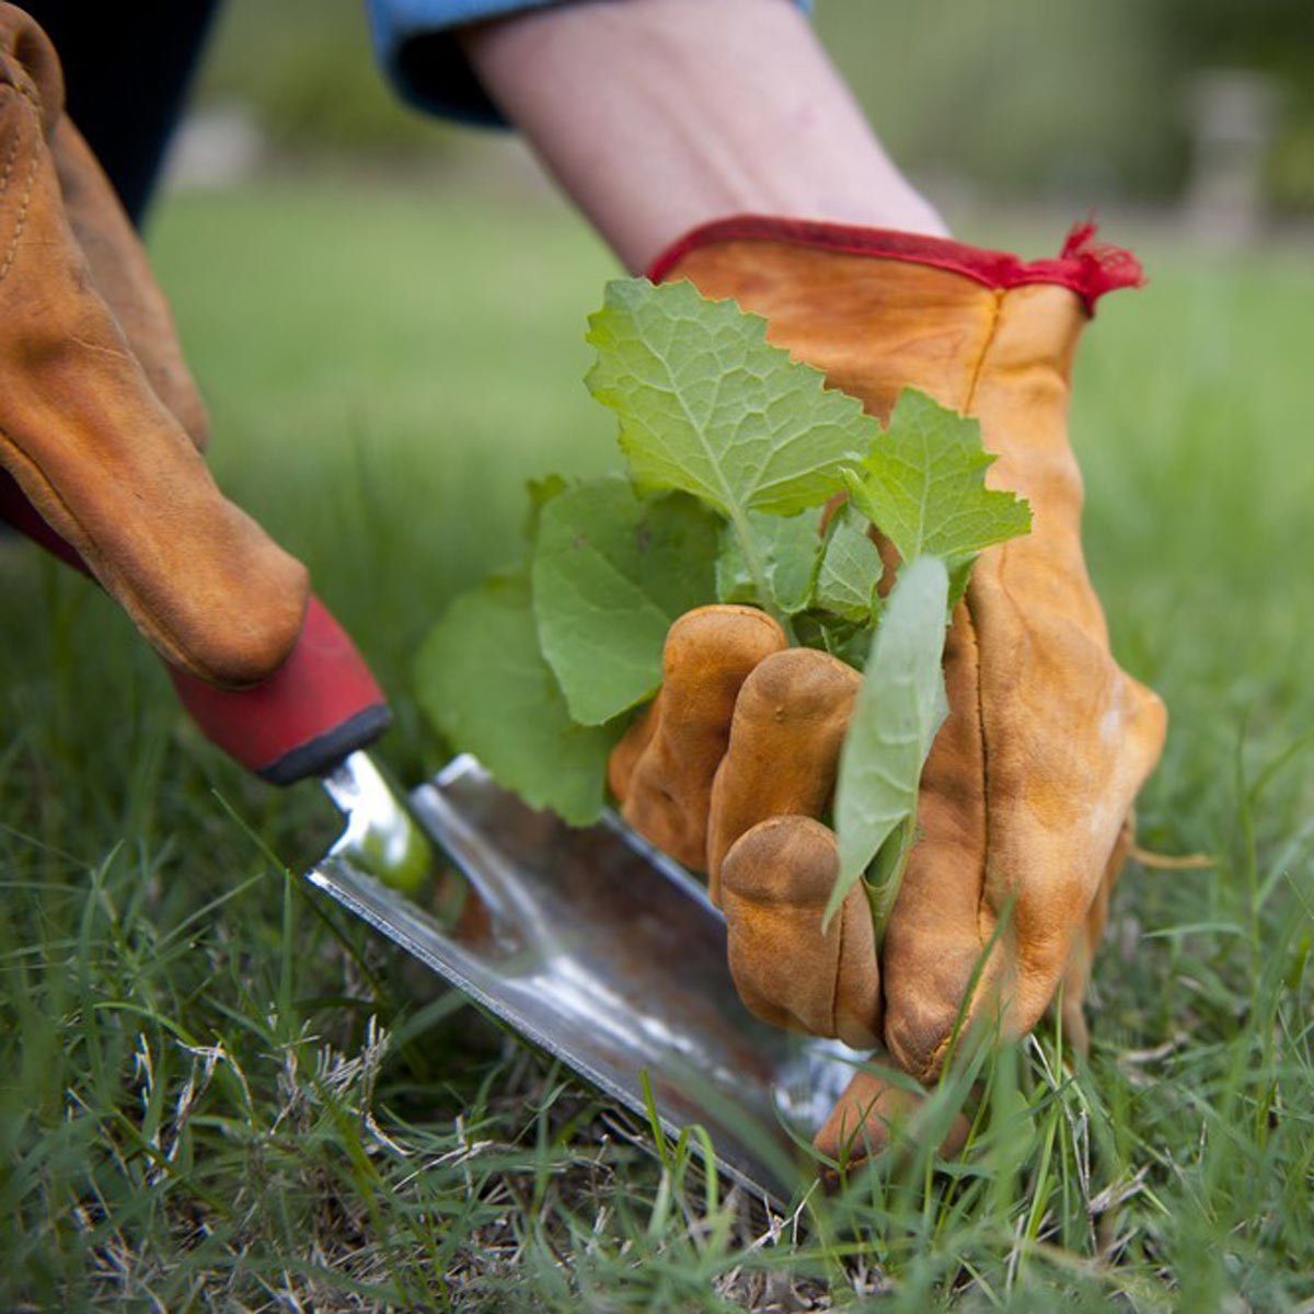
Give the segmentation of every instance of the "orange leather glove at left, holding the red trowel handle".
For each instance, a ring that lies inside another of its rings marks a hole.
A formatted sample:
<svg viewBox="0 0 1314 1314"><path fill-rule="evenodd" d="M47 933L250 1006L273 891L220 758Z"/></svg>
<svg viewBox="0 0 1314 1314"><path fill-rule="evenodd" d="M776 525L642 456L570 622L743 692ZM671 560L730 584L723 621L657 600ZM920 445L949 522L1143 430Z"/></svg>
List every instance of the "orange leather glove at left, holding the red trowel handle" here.
<svg viewBox="0 0 1314 1314"><path fill-rule="evenodd" d="M0 3L0 468L170 662L218 685L292 650L305 568L226 501L145 251Z"/></svg>

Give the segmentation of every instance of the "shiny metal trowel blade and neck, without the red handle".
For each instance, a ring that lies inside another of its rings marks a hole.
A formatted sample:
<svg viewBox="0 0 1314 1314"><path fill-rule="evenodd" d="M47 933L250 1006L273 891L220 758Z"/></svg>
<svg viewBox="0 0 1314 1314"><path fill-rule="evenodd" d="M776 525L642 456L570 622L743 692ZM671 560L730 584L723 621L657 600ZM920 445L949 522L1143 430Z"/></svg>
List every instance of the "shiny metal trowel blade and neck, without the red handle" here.
<svg viewBox="0 0 1314 1314"><path fill-rule="evenodd" d="M668 1133L703 1125L725 1172L788 1198L795 1138L811 1139L857 1055L746 1012L721 915L683 869L614 816L572 830L532 812L460 757L409 799L470 884L444 928L376 879L413 823L368 758L326 788L348 824L313 884L618 1102L645 1117L650 1092Z"/></svg>

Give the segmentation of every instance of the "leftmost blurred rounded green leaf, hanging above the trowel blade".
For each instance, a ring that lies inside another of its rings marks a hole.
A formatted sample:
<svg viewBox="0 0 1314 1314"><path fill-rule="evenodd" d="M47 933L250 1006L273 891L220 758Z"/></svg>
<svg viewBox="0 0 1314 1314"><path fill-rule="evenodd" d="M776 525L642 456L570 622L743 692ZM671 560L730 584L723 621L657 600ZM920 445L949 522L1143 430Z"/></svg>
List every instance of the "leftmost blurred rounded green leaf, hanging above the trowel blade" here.
<svg viewBox="0 0 1314 1314"><path fill-rule="evenodd" d="M461 594L430 631L415 675L434 724L499 784L572 825L598 819L620 731L570 720L539 652L527 581L494 578Z"/></svg>

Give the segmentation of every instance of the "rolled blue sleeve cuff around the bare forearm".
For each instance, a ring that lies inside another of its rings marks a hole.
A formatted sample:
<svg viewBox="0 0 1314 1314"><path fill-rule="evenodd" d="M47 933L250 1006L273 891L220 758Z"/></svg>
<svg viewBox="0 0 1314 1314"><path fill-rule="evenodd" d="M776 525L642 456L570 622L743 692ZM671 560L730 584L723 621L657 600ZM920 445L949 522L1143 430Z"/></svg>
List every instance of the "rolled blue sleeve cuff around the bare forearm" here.
<svg viewBox="0 0 1314 1314"><path fill-rule="evenodd" d="M457 122L506 127L453 29L561 3L570 0L365 0L365 8L374 57L402 100Z"/></svg>

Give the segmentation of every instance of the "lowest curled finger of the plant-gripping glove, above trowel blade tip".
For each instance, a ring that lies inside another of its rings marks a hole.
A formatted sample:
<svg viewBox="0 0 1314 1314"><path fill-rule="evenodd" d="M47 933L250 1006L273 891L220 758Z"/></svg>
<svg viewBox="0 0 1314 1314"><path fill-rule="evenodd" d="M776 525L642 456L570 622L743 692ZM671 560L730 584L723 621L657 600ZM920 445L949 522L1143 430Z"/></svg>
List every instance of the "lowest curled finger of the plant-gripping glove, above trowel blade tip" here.
<svg viewBox="0 0 1314 1314"><path fill-rule="evenodd" d="M771 817L741 836L721 863L731 975L763 1021L870 1049L880 971L863 890L821 929L838 871L834 833L812 817Z"/></svg>

